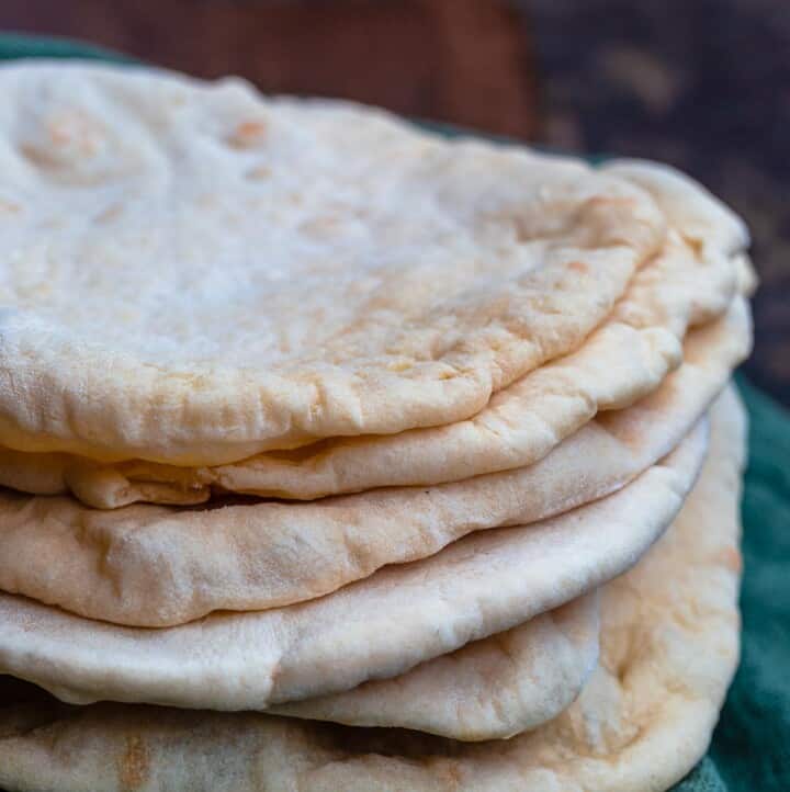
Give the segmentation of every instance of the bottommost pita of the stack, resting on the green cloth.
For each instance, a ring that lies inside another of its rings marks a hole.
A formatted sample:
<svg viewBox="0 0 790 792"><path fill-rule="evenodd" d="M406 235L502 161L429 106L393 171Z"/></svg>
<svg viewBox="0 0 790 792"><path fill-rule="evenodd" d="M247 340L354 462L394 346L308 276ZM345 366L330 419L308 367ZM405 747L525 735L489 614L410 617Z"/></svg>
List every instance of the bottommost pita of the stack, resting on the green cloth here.
<svg viewBox="0 0 790 792"><path fill-rule="evenodd" d="M257 714L58 703L0 717L0 782L30 792L662 792L703 755L737 660L743 414L713 411L675 525L605 590L603 663L551 724L463 745Z"/></svg>

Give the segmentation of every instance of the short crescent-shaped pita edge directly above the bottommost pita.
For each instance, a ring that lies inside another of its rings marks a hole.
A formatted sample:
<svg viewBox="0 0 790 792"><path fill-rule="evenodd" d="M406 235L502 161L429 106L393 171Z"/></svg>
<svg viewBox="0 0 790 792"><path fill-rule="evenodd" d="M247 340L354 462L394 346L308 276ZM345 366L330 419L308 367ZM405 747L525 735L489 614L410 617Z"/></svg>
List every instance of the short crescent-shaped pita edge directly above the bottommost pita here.
<svg viewBox="0 0 790 792"><path fill-rule="evenodd" d="M271 711L461 740L512 737L556 717L582 692L598 660L599 630L592 592L393 679Z"/></svg>

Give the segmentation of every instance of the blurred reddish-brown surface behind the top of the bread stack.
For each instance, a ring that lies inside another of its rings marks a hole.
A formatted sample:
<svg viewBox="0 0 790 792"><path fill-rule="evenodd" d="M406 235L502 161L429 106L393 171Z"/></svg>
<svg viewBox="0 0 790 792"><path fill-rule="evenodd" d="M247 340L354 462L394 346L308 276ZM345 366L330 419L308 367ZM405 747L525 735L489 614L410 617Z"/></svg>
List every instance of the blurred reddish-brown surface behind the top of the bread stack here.
<svg viewBox="0 0 790 792"><path fill-rule="evenodd" d="M4 30L531 137L535 89L520 22L512 5L489 0L0 0Z"/></svg>

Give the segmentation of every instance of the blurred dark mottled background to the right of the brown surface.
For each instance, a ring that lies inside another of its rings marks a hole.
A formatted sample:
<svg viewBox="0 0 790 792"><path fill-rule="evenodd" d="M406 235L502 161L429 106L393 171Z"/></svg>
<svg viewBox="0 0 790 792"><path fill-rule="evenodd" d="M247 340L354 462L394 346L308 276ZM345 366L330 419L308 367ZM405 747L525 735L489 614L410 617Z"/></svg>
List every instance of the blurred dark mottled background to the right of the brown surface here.
<svg viewBox="0 0 790 792"><path fill-rule="evenodd" d="M748 377L790 406L790 2L518 0L560 148L669 162L752 230Z"/></svg>

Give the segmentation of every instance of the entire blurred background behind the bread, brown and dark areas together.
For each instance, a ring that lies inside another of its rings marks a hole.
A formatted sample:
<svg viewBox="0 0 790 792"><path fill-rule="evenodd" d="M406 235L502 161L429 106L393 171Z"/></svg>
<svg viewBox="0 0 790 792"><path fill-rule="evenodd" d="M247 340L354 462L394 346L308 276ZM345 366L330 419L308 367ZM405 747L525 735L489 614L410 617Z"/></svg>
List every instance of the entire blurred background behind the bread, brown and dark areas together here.
<svg viewBox="0 0 790 792"><path fill-rule="evenodd" d="M0 29L677 165L752 227L745 367L790 405L790 0L0 0Z"/></svg>

